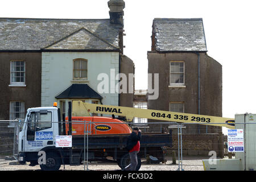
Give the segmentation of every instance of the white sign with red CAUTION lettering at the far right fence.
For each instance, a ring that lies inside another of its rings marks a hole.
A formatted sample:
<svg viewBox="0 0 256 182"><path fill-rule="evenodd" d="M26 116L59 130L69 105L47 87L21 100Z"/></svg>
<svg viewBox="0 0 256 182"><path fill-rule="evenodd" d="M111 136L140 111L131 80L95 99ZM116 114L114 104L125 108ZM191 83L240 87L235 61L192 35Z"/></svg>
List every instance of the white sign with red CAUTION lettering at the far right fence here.
<svg viewBox="0 0 256 182"><path fill-rule="evenodd" d="M228 151L244 152L243 146L243 129L228 130Z"/></svg>

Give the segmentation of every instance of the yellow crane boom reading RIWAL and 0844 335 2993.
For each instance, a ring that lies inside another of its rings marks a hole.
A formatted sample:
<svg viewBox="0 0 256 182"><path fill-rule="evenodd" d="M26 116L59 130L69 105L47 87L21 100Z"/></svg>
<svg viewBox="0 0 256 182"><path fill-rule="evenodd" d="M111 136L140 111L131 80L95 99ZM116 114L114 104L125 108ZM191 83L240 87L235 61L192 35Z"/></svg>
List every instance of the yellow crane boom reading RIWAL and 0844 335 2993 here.
<svg viewBox="0 0 256 182"><path fill-rule="evenodd" d="M202 125L221 126L228 127L229 129L234 129L233 118L222 118L210 115L188 113L176 113L172 111L163 110L138 109L134 107L89 104L82 101L73 101L73 116L90 116L89 113L119 115L126 117L127 121L132 121L134 117L138 117L147 119L157 119L169 122L198 123Z"/></svg>

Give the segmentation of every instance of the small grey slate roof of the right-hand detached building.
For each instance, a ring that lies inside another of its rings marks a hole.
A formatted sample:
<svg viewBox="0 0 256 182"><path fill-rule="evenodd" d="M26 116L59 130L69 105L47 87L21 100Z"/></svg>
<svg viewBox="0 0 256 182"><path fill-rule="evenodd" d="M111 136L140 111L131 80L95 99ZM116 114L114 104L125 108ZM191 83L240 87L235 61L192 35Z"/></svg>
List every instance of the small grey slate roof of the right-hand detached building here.
<svg viewBox="0 0 256 182"><path fill-rule="evenodd" d="M203 19L201 18L155 18L152 28L155 34L156 51L207 52Z"/></svg>

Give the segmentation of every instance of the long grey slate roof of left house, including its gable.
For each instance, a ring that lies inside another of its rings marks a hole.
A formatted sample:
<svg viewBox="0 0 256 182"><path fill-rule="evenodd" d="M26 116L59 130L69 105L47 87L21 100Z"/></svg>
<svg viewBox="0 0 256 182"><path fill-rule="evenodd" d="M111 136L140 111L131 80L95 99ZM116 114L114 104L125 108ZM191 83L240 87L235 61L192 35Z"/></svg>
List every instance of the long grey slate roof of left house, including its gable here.
<svg viewBox="0 0 256 182"><path fill-rule="evenodd" d="M109 19L0 18L0 51L118 50L119 28Z"/></svg>

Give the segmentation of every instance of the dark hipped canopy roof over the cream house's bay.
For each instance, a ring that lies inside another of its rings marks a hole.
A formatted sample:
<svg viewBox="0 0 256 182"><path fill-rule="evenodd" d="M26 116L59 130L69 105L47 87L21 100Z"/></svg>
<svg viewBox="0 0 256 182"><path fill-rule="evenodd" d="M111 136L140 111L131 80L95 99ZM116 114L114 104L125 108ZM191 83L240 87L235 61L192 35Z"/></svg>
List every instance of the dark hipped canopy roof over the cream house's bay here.
<svg viewBox="0 0 256 182"><path fill-rule="evenodd" d="M97 98L102 99L100 94L87 84L72 84L55 98Z"/></svg>

